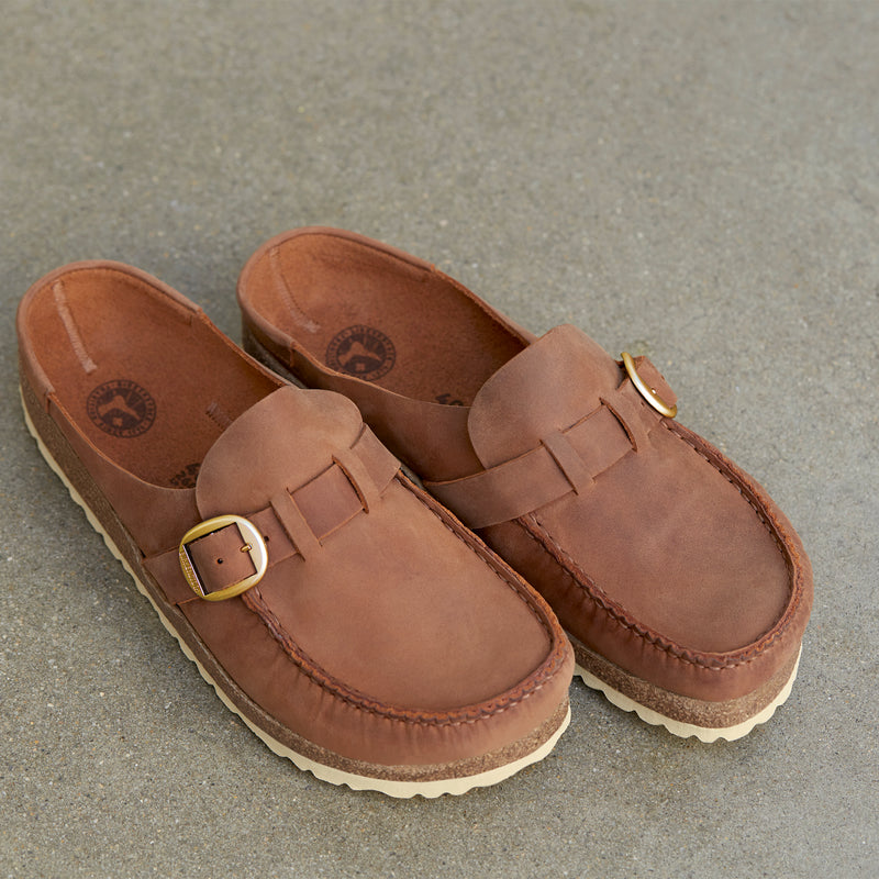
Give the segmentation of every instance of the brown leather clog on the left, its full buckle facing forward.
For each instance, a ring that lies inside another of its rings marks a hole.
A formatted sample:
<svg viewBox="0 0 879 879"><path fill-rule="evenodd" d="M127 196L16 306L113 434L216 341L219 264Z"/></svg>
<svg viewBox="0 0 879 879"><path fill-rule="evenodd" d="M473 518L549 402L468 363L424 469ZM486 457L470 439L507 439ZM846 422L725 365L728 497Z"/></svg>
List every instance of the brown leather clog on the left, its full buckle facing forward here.
<svg viewBox="0 0 879 879"><path fill-rule="evenodd" d="M43 455L272 750L394 797L463 793L549 753L565 633L354 403L290 386L118 263L37 281L18 330Z"/></svg>

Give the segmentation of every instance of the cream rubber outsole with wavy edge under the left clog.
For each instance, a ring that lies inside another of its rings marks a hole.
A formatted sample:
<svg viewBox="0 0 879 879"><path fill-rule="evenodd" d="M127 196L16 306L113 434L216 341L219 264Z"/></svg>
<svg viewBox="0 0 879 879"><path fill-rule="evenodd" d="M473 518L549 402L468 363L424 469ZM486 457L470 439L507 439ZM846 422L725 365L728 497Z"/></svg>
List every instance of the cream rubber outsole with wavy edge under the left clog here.
<svg viewBox="0 0 879 879"><path fill-rule="evenodd" d="M202 666L202 664L198 660L187 643L168 622L168 620L165 617L165 614L162 612L155 601L153 601L148 590L143 586L136 574L132 570L131 566L120 553L113 539L98 521L98 518L94 515L85 500L82 500L76 488L67 479L66 474L40 437L40 434L37 433L36 427L31 420L31 415L27 412L27 407L24 404L23 399L22 409L24 411L24 421L27 425L27 430L31 433L31 436L33 436L33 438L36 441L37 448L40 449L41 455L45 458L46 464L48 464L53 472L62 480L74 501L82 508L89 524L94 528L94 531L98 532L98 534L103 537L107 548L120 561L132 580L134 580L137 591L146 598L146 600L153 607L153 610L158 614L158 619L162 621L162 624L171 635L174 635L175 641L177 641L179 644L180 649L183 652L183 655L187 657L187 659L189 659L191 663L194 663L196 668L198 668L201 677L204 678L204 680L210 683L211 687L213 687L223 704L233 714L241 717L241 720L247 725L254 735L260 738L275 754L289 759L297 768L311 772L313 776L315 776L315 778L321 779L321 781L327 781L331 785L345 785L352 790L378 791L389 797L396 797L399 799L410 799L416 795L424 797L426 799L433 799L436 797L442 797L445 793L457 795L466 793L472 788L483 788L490 787L491 785L497 785L498 782L514 776L526 766L538 763L553 750L561 734L565 732L565 730L567 730L568 724L570 723L570 706L568 706L568 712L559 727L536 750L526 754L524 757L520 757L518 760L504 764L503 766L499 766L494 769L489 769L485 772L477 772L476 775L463 776L460 778L438 779L434 781L398 781L393 779L375 778L371 776L359 776L355 775L354 772L346 772L343 769L337 769L332 766L325 766L324 764L316 763L315 760L312 760L302 754L298 754L287 745L270 736L265 732L265 730L262 730L253 721L251 721L249 717L245 716L216 683L216 681L211 677L204 666Z"/></svg>

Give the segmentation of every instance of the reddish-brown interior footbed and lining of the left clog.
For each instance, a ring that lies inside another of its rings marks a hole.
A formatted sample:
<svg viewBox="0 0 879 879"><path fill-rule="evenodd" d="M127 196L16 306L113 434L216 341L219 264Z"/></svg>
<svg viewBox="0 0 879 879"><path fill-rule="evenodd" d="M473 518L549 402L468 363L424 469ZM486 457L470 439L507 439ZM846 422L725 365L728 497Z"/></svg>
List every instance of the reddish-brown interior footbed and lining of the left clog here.
<svg viewBox="0 0 879 879"><path fill-rule="evenodd" d="M104 455L154 485L194 485L225 426L275 388L196 313L116 269L63 276L26 321L58 402Z"/></svg>

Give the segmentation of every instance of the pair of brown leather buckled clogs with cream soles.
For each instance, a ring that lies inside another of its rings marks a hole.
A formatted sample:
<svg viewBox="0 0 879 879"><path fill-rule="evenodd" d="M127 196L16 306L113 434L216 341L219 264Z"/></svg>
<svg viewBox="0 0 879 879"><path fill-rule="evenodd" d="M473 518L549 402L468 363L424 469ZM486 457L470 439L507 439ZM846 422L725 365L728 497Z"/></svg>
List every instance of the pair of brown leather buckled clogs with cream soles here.
<svg viewBox="0 0 879 879"><path fill-rule="evenodd" d="M265 244L238 299L255 359L142 271L65 266L19 308L21 390L49 465L275 752L435 797L546 756L575 668L706 742L787 699L809 560L648 360L536 338L331 229Z"/></svg>

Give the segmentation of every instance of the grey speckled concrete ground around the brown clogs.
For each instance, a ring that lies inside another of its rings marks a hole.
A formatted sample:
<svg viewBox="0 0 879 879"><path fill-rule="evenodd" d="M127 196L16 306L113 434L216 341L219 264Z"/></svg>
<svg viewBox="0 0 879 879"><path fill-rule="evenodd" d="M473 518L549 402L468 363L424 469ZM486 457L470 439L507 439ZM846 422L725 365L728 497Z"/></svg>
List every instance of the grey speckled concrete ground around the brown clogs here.
<svg viewBox="0 0 879 879"><path fill-rule="evenodd" d="M4 0L0 877L876 877L879 3ZM74 259L237 336L292 226L647 352L800 530L798 686L734 744L581 686L463 798L315 781L222 706L25 433L14 309Z"/></svg>

